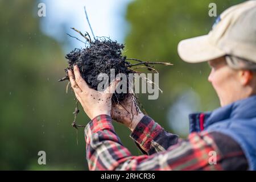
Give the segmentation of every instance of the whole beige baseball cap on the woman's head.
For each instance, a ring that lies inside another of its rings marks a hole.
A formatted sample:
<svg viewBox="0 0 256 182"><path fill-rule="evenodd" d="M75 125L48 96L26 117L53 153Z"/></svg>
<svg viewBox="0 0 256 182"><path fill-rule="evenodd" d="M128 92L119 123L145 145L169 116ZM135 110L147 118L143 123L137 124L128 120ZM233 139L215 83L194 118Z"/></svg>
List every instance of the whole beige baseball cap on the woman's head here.
<svg viewBox="0 0 256 182"><path fill-rule="evenodd" d="M208 35L182 40L181 59L200 63L232 55L256 63L256 1L246 1L225 10Z"/></svg>

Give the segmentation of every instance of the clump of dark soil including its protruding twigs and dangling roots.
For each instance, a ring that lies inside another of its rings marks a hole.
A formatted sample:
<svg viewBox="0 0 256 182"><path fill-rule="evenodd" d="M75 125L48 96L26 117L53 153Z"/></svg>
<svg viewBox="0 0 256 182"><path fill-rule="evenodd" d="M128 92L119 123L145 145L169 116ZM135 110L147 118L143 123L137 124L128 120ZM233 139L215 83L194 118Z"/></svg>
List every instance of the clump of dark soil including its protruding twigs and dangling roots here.
<svg viewBox="0 0 256 182"><path fill-rule="evenodd" d="M172 65L170 63L141 61L138 59L127 59L126 56L122 55L122 50L125 47L123 44L119 44L116 41L113 41L105 37L98 39L94 37L94 40L92 40L90 39L88 32L86 32L86 34L82 34L75 28L72 29L79 32L79 34L86 39L86 46L82 49L76 48L65 56L65 58L68 59L68 67L64 69L66 73L65 77L61 78L59 81L69 80L68 69L73 69L74 65L78 65L82 78L84 78L84 80L92 89L97 90L98 84L101 82L97 79L100 73L106 73L109 76L109 84L112 81L110 77L110 69L114 69L115 76L117 76L118 73L124 73L127 76L126 81L129 81L129 73L141 73L135 71L135 69L147 68L149 71L157 72L156 69L153 68L153 64ZM71 37L76 38L74 36ZM76 39L81 41L78 38ZM131 64L127 60L134 60L138 63ZM142 66L135 67L138 65ZM132 69L131 67L135 68ZM127 82L127 89L129 89L128 85L129 83ZM114 93L112 96L112 102L118 104L119 102L125 99L127 94L129 94L128 90L126 93ZM135 96L135 102L137 102L142 107L142 105L138 101L137 96ZM75 128L77 128L77 126L82 126L76 124L76 116L78 113L79 109L77 101L76 109L73 112L73 114L75 114L75 119L72 123L72 126Z"/></svg>

